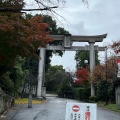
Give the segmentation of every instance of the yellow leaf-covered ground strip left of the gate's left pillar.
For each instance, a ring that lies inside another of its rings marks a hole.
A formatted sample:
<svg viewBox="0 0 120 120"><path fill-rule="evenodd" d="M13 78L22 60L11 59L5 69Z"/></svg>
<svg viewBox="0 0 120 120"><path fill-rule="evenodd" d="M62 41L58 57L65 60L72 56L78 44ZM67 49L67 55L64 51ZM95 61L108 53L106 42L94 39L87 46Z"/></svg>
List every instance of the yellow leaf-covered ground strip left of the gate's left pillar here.
<svg viewBox="0 0 120 120"><path fill-rule="evenodd" d="M41 100L32 100L32 104L41 104L44 101ZM15 104L28 104L28 98L18 98L15 99Z"/></svg>

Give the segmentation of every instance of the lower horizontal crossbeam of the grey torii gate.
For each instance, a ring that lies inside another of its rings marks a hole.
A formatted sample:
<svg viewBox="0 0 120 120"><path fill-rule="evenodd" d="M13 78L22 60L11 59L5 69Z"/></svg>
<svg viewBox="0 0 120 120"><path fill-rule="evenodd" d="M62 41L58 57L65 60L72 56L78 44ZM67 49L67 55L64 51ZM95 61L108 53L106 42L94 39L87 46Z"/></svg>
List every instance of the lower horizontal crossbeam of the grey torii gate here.
<svg viewBox="0 0 120 120"><path fill-rule="evenodd" d="M54 45L47 45L46 50L65 50L65 51L79 51L79 50L90 50L89 45L85 46L71 46L70 48L65 48L64 46L54 46ZM95 51L105 51L105 47L98 47L94 46Z"/></svg>

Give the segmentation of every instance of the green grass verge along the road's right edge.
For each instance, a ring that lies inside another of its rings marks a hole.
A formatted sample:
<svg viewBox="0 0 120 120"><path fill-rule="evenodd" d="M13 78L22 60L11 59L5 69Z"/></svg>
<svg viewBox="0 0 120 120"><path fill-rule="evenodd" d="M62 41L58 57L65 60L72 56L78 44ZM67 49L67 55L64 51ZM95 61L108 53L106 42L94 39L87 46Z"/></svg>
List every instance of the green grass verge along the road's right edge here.
<svg viewBox="0 0 120 120"><path fill-rule="evenodd" d="M120 113L120 109L118 109L117 105L113 103L109 103L108 105L105 105L105 102L99 102L98 106Z"/></svg>

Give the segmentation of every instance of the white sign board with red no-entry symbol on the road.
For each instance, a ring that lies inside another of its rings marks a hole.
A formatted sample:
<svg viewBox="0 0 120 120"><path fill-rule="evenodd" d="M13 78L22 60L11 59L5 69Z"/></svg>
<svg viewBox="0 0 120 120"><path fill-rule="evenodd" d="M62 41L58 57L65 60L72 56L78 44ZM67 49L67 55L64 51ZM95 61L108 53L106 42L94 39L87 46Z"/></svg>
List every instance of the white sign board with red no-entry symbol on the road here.
<svg viewBox="0 0 120 120"><path fill-rule="evenodd" d="M97 120L97 105L91 103L67 103L65 120Z"/></svg>

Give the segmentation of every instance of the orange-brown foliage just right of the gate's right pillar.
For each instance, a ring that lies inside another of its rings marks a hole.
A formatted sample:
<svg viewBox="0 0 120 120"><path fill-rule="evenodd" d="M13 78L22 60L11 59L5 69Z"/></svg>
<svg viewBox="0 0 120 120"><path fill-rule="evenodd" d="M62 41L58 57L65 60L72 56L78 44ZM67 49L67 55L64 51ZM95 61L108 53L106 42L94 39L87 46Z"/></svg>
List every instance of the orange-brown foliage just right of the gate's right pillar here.
<svg viewBox="0 0 120 120"><path fill-rule="evenodd" d="M95 66L93 70L92 80L95 84L99 83L101 80L107 80L108 82L113 82L117 75L117 58L109 58L105 64Z"/></svg>

